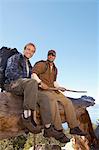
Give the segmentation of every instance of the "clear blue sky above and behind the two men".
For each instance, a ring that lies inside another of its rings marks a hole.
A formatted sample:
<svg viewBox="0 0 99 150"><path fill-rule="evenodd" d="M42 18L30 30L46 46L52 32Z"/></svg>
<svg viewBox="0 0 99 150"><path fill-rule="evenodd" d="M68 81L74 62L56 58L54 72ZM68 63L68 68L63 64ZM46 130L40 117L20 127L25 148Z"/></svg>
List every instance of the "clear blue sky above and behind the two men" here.
<svg viewBox="0 0 99 150"><path fill-rule="evenodd" d="M87 90L99 103L98 7L96 0L0 0L0 47L22 52L26 43L35 43L32 64L55 49L58 82Z"/></svg>

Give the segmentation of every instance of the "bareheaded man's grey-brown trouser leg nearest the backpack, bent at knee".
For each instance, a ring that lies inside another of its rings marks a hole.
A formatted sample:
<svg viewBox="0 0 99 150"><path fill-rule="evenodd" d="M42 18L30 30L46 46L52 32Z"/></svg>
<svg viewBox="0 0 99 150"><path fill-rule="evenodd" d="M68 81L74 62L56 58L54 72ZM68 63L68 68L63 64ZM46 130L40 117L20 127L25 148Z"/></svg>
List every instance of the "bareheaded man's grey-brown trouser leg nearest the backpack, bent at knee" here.
<svg viewBox="0 0 99 150"><path fill-rule="evenodd" d="M34 79L20 78L5 86L6 91L24 96L23 108L36 110L38 84Z"/></svg>

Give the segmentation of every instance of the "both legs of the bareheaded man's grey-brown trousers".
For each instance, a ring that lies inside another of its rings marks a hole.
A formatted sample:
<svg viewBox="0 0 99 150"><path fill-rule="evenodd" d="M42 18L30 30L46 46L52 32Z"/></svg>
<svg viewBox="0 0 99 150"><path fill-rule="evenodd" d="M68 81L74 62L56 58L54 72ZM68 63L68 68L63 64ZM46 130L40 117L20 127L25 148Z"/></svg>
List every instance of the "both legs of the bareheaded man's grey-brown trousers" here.
<svg viewBox="0 0 99 150"><path fill-rule="evenodd" d="M24 96L23 108L36 110L37 104L40 107L42 124L52 122L49 98L38 91L38 84L34 79L18 79L5 87L6 91L16 95Z"/></svg>

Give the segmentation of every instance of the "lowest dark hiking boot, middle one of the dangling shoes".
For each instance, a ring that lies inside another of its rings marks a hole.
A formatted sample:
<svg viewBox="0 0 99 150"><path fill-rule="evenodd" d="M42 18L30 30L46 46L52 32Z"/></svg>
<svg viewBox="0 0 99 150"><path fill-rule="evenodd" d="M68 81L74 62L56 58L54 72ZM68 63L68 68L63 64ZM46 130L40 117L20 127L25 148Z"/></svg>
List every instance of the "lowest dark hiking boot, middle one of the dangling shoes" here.
<svg viewBox="0 0 99 150"><path fill-rule="evenodd" d="M61 143L67 143L70 141L62 131L56 130L52 125L49 128L44 128L44 137L54 137Z"/></svg>

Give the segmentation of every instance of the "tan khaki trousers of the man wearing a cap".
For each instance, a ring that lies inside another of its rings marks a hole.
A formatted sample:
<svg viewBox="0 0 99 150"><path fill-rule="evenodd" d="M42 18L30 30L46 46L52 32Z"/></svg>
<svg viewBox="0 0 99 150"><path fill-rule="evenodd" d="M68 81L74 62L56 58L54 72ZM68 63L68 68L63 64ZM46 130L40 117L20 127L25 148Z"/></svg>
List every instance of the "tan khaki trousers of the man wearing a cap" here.
<svg viewBox="0 0 99 150"><path fill-rule="evenodd" d="M74 106L68 98L66 98L62 93L56 93L55 91L44 91L42 93L49 97L50 107L51 107L51 115L52 121L56 129L62 129L62 122L59 113L58 101L63 105L66 121L68 123L69 128L74 128L78 126L78 121L76 118L76 113Z"/></svg>

